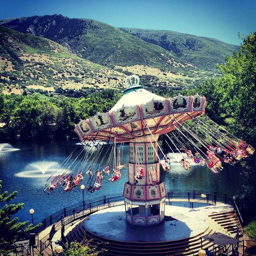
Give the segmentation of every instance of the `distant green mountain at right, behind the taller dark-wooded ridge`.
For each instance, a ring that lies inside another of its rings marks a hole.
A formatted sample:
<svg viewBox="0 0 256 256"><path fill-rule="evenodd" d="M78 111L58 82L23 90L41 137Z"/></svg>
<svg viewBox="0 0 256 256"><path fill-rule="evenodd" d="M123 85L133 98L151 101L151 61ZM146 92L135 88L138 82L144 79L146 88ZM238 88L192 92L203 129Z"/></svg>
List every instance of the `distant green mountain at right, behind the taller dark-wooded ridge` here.
<svg viewBox="0 0 256 256"><path fill-rule="evenodd" d="M174 58L192 63L200 69L215 69L217 63L224 63L239 46L217 39L193 36L168 30L121 28L143 41L156 44L170 51Z"/></svg>

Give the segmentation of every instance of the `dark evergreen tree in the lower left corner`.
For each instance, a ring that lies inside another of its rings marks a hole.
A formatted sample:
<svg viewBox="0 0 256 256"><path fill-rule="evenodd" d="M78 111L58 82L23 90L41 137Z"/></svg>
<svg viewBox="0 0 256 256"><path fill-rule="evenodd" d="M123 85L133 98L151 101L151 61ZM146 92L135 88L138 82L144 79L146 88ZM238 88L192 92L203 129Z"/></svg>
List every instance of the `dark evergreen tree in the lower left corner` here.
<svg viewBox="0 0 256 256"><path fill-rule="evenodd" d="M0 180L0 204L10 202L15 198L17 191L8 194L8 191L2 193L2 180ZM12 252L12 245L18 240L22 239L25 234L36 230L42 224L36 226L32 224L26 226L29 221L18 222L18 217L12 218L23 208L23 203L5 204L0 208L0 255L9 255ZM26 226L26 227L25 227Z"/></svg>

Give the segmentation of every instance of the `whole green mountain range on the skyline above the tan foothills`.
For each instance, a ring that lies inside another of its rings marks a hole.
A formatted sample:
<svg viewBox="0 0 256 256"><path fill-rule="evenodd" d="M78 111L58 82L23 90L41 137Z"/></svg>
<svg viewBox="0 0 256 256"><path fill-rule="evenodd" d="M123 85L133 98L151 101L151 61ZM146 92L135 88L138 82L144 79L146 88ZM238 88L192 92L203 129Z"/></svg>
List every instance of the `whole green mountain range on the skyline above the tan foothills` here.
<svg viewBox="0 0 256 256"><path fill-rule="evenodd" d="M165 30L114 28L93 19L62 15L33 16L2 21L19 32L46 37L79 57L113 66L150 65L167 70L214 70L238 46L217 39ZM178 64L177 64L178 63ZM181 63L181 65L179 65Z"/></svg>

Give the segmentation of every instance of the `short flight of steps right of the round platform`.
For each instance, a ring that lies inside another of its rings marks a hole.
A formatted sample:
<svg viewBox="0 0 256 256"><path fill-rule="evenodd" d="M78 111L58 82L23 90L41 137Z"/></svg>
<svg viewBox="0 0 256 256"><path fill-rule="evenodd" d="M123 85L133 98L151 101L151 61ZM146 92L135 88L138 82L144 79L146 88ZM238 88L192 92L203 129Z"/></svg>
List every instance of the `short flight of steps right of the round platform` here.
<svg viewBox="0 0 256 256"><path fill-rule="evenodd" d="M224 212L210 214L208 216L210 222L215 224L213 227L215 231L230 235L234 237L237 232L239 235L243 234L243 228L235 212Z"/></svg>

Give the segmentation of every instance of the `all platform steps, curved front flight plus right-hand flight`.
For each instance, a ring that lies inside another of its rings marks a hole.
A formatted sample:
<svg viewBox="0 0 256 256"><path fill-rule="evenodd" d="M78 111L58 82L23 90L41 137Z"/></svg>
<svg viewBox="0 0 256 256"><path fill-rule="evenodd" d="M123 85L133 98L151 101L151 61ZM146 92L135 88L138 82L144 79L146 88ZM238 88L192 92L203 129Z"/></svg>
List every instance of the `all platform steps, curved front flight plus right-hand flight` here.
<svg viewBox="0 0 256 256"><path fill-rule="evenodd" d="M106 250L104 255L197 255L201 249L201 237L221 232L232 237L242 233L242 227L235 212L215 213L208 215L209 226L204 232L176 241L164 242L125 242L100 238L85 230L84 221L78 223L67 235L71 241L91 240L98 248ZM213 250L213 242L202 239L203 248Z"/></svg>

